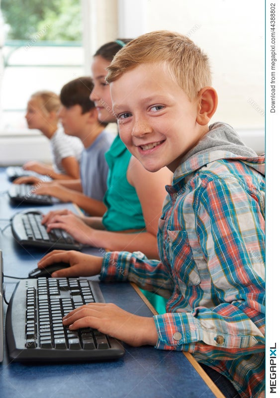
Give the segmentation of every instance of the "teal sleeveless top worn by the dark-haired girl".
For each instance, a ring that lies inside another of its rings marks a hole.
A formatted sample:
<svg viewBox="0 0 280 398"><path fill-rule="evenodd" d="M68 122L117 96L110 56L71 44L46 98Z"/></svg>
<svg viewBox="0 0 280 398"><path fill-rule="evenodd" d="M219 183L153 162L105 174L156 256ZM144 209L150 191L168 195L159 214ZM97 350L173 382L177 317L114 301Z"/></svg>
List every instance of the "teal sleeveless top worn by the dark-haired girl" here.
<svg viewBox="0 0 280 398"><path fill-rule="evenodd" d="M107 231L125 231L144 229L145 221L135 188L126 178L131 153L127 150L119 135L105 153L109 166L107 191L103 202L107 211L102 223Z"/></svg>

